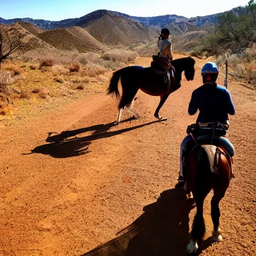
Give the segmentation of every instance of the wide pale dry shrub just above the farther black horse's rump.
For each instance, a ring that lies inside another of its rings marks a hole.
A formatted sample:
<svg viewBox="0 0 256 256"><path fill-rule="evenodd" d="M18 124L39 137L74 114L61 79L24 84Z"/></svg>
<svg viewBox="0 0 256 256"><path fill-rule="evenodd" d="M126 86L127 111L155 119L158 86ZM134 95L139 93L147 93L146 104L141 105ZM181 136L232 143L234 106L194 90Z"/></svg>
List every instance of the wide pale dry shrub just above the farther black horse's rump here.
<svg viewBox="0 0 256 256"><path fill-rule="evenodd" d="M104 60L128 63L128 62L134 61L137 55L138 53L133 50L112 49L104 52L101 55L101 58Z"/></svg>

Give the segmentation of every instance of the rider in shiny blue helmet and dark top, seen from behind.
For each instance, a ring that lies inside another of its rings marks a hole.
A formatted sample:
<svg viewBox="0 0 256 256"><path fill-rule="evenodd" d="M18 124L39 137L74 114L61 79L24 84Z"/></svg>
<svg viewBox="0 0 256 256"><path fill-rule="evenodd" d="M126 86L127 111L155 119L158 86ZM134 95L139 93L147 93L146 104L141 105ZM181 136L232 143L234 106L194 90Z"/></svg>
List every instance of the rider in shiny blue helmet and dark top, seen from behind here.
<svg viewBox="0 0 256 256"><path fill-rule="evenodd" d="M190 135L187 135L181 142L180 170L178 183L175 187L182 187L185 183L184 164L189 151L195 145L194 138L212 134L212 129L210 129L211 133L209 134L209 129L201 128L203 124L207 126L207 123L218 122L227 129L229 126L228 114L233 115L235 113L229 91L215 82L218 76L218 66L214 62L206 63L201 69L201 75L203 85L192 92L188 105L188 113L190 115L195 114L197 109L199 109L195 124L197 128L194 129L194 132L189 133ZM232 157L234 155L234 147L231 142L226 137L223 137L223 134L216 134L216 136L216 145L221 146Z"/></svg>

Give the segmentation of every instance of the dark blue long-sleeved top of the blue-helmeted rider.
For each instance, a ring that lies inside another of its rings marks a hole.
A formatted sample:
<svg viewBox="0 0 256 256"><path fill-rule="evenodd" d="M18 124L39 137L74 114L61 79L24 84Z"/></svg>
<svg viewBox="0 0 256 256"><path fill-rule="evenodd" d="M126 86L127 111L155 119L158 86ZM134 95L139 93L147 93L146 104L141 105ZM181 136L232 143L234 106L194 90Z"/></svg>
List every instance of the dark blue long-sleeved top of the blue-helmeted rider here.
<svg viewBox="0 0 256 256"><path fill-rule="evenodd" d="M192 92L188 113L195 114L197 109L196 122L225 122L227 114L235 113L229 91L216 83L203 84Z"/></svg>

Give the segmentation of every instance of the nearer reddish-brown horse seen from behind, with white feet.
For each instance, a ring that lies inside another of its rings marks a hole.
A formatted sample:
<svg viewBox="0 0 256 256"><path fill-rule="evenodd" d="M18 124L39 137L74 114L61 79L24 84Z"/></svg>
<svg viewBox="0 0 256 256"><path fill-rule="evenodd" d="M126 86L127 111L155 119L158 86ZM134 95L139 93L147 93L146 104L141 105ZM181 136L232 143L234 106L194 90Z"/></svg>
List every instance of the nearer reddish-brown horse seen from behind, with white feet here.
<svg viewBox="0 0 256 256"><path fill-rule="evenodd" d="M187 252L194 254L205 233L203 220L203 201L211 189L211 218L213 222L212 239L221 241L219 229L219 201L224 197L225 191L231 179L230 156L215 145L195 145L187 159L186 164L186 193L188 198L194 198L196 214L191 230L191 240L187 245Z"/></svg>

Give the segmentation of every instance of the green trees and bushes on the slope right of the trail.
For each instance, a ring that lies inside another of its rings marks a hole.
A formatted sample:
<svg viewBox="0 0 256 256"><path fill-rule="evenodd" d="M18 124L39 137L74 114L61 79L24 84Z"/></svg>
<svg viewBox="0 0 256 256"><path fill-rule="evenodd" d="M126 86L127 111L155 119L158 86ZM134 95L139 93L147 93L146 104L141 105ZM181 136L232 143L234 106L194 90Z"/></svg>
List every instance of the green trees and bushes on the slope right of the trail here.
<svg viewBox="0 0 256 256"><path fill-rule="evenodd" d="M217 24L190 53L212 56L221 63L229 52L229 63L237 78L244 78L256 88L256 1L239 6L219 16Z"/></svg>

